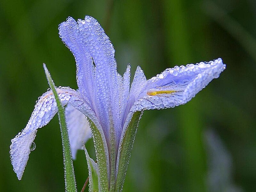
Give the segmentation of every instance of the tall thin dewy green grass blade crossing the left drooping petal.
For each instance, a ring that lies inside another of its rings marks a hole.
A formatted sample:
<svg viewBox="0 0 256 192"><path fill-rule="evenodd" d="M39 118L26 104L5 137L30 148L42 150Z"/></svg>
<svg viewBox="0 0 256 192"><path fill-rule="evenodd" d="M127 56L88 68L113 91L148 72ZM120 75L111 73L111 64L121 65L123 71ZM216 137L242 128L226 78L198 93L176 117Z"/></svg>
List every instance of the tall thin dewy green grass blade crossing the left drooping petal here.
<svg viewBox="0 0 256 192"><path fill-rule="evenodd" d="M65 117L64 108L61 105L60 99L58 97L58 93L55 89L54 82L52 80L51 74L46 68L44 64L44 72L50 85L53 95L55 97L57 107L58 107L58 116L60 121L60 132L61 132L61 140L62 140L62 147L63 147L63 163L64 163L64 172L65 172L65 190L67 192L76 192L76 179L73 167L73 160L71 155L70 149L70 142L68 137L68 129Z"/></svg>

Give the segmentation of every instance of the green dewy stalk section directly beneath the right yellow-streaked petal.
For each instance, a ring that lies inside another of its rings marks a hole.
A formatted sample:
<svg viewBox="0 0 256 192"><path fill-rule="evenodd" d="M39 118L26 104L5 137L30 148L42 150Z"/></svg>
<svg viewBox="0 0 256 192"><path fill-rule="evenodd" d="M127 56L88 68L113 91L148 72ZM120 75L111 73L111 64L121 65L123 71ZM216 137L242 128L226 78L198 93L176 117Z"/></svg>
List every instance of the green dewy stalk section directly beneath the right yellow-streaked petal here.
<svg viewBox="0 0 256 192"><path fill-rule="evenodd" d="M119 156L118 172L117 172L116 187L115 187L115 191L117 192L120 192L123 189L125 175L126 175L129 161L130 161L133 143L135 140L135 135L137 132L141 115L142 115L142 111L136 111L133 114L132 119L125 131L121 148L119 148L120 156Z"/></svg>

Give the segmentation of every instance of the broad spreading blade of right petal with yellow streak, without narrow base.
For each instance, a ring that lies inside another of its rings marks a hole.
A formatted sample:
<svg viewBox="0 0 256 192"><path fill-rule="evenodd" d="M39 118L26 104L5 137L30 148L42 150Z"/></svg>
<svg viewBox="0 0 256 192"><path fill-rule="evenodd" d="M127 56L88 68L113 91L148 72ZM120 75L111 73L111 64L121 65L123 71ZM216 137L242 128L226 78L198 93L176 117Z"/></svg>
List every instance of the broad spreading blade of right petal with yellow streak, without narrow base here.
<svg viewBox="0 0 256 192"><path fill-rule="evenodd" d="M168 68L144 85L131 111L172 108L187 103L226 68L222 59Z"/></svg>

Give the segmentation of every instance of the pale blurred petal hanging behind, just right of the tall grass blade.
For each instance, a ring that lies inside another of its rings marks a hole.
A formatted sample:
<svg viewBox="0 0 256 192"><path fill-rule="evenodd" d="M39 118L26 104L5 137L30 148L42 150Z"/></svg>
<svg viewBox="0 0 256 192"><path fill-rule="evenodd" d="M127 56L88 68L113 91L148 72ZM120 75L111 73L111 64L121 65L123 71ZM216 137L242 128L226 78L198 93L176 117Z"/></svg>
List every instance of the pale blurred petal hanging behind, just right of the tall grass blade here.
<svg viewBox="0 0 256 192"><path fill-rule="evenodd" d="M68 136L73 159L76 159L76 152L82 149L85 143L92 137L90 126L83 113L75 109L71 104L67 104L65 108Z"/></svg>

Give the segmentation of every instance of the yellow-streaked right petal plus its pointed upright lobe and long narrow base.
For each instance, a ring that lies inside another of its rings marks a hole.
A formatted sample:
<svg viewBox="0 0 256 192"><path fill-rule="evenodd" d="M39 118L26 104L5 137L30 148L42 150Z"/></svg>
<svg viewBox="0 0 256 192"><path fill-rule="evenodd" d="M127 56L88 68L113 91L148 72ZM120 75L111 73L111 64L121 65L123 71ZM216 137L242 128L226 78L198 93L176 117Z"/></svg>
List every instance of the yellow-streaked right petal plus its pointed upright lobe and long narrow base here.
<svg viewBox="0 0 256 192"><path fill-rule="evenodd" d="M125 134L128 131L127 127L136 111L170 108L185 104L212 79L218 78L225 68L226 65L219 58L210 62L200 62L196 65L188 64L186 67L175 66L146 81L143 71L138 67L129 95L128 102L130 104L128 103L125 112L127 115L125 115L118 150L117 168L119 168L120 153ZM135 100L134 103L132 103L133 100Z"/></svg>

